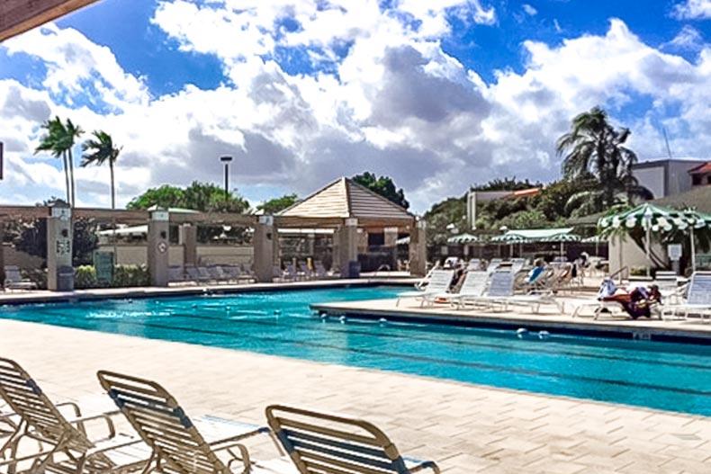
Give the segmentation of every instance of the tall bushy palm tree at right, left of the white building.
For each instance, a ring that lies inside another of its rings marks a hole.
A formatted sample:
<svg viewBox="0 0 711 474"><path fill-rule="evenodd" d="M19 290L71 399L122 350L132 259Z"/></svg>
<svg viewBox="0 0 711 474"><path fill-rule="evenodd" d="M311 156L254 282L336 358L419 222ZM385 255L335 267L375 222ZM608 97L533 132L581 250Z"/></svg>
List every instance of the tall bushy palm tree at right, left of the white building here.
<svg viewBox="0 0 711 474"><path fill-rule="evenodd" d="M583 189L571 197L571 206L595 212L637 196L652 197L632 174L637 156L624 146L630 133L610 125L607 112L600 107L572 120L571 131L556 143L558 155L565 154L563 176L576 180Z"/></svg>

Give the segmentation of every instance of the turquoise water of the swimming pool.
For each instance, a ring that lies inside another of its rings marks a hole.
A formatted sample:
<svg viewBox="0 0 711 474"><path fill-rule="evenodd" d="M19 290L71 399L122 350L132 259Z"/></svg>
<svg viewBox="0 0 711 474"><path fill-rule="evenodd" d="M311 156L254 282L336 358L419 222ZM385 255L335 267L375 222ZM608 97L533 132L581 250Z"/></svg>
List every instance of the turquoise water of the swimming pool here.
<svg viewBox="0 0 711 474"><path fill-rule="evenodd" d="M711 416L711 347L315 317L398 288L4 307L0 317ZM12 354L4 354L12 357Z"/></svg>

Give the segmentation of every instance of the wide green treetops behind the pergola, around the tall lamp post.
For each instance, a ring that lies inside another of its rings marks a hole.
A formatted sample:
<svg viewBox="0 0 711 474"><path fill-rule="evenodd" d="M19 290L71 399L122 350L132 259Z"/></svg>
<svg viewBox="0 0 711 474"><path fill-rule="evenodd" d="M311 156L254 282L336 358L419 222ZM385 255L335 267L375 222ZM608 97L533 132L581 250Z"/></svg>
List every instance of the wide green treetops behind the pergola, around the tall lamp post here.
<svg viewBox="0 0 711 474"><path fill-rule="evenodd" d="M193 181L186 188L164 184L151 188L133 198L126 206L128 209L185 208L203 212L236 212L249 209L249 202L236 192L229 192L225 200L225 191L215 184Z"/></svg>

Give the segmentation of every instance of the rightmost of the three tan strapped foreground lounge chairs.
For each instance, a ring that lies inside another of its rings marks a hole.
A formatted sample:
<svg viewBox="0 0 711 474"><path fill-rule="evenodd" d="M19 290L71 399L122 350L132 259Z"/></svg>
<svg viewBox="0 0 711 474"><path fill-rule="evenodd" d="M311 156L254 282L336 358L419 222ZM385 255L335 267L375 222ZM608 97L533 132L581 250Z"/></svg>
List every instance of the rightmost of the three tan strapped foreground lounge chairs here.
<svg viewBox="0 0 711 474"><path fill-rule="evenodd" d="M390 438L366 421L280 405L266 407L266 420L300 474L439 473L434 461L402 457Z"/></svg>

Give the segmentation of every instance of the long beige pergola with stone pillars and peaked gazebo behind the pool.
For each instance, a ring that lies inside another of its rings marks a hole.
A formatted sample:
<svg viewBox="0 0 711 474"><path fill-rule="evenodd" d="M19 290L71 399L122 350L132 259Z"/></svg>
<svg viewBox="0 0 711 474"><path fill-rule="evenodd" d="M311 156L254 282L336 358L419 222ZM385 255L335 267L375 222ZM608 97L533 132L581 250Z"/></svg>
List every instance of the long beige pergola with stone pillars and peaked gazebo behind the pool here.
<svg viewBox="0 0 711 474"><path fill-rule="evenodd" d="M168 282L169 226L179 226L184 245L184 264L197 263L199 226L241 226L254 233L254 268L257 281L271 282L279 255L278 228L329 228L334 232L334 262L349 276L349 262L357 261L358 228L390 233L392 245L398 232L410 234L410 273L424 274L426 242L424 222L382 196L341 178L277 216L170 210L69 209L56 206L0 206L0 223L17 219L47 219L47 268L49 290L64 290L60 274L72 272L72 220L96 223L121 222L148 226L148 270L155 286ZM4 257L0 252L0 270Z"/></svg>

